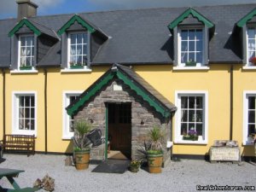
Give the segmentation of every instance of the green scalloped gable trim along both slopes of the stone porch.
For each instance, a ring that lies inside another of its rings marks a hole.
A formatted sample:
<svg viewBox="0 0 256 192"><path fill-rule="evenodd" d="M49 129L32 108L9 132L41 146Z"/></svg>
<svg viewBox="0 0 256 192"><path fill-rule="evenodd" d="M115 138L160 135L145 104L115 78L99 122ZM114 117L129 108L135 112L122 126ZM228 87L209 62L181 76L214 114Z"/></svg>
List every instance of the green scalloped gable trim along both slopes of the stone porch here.
<svg viewBox="0 0 256 192"><path fill-rule="evenodd" d="M106 76L102 77L102 79L100 79L96 84L93 84L92 87L89 88L86 94L82 96L78 102L75 102L73 106L67 108L67 114L74 115L75 113L77 113L79 108L83 106L85 102L89 101L92 96L95 96L96 92L101 90L102 87L108 84L108 82L114 77L123 80L124 83L131 88L131 90L136 91L138 96L142 96L143 100L148 102L148 104L153 107L158 113L160 113L164 118L170 117L171 112L167 108L165 108L160 102L149 96L145 90L137 86L137 84L135 84L131 79L129 79L127 76L125 76L124 73L120 72L119 70L117 72L111 72L106 74Z"/></svg>

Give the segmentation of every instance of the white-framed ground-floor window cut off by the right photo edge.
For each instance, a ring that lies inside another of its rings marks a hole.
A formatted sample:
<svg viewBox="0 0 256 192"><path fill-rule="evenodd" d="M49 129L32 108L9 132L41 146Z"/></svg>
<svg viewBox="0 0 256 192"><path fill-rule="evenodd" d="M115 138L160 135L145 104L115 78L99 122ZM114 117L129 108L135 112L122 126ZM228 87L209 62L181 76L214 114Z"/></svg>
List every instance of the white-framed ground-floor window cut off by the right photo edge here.
<svg viewBox="0 0 256 192"><path fill-rule="evenodd" d="M243 144L253 144L256 133L256 90L243 93Z"/></svg>

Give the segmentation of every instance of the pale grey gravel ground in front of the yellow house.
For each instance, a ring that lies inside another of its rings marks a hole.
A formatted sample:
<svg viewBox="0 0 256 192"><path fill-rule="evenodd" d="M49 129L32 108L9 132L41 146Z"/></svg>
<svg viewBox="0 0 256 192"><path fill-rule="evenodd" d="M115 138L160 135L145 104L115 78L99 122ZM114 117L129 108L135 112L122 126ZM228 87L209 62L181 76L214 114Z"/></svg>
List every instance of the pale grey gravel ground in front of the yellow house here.
<svg viewBox="0 0 256 192"><path fill-rule="evenodd" d="M211 164L204 160L181 160L171 162L161 174L149 174L141 169L137 173L94 173L96 165L86 171L76 171L74 166L65 166L65 156L35 154L30 157L19 154L4 154L1 168L21 169L15 178L20 187L32 187L37 178L46 174L55 179L55 191L196 191L196 185L255 186L256 164L241 162ZM8 180L0 180L3 188L11 188ZM44 191L43 189L40 191Z"/></svg>

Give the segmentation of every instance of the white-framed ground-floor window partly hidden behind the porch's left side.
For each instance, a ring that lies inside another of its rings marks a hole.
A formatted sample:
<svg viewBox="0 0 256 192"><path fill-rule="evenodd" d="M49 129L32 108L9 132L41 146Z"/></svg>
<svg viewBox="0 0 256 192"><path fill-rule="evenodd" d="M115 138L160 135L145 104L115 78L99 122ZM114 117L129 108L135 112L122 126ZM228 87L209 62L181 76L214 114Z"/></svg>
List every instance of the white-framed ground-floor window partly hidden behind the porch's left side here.
<svg viewBox="0 0 256 192"><path fill-rule="evenodd" d="M67 106L72 103L83 91L64 91L63 92L63 139L73 137L73 116L67 114Z"/></svg>

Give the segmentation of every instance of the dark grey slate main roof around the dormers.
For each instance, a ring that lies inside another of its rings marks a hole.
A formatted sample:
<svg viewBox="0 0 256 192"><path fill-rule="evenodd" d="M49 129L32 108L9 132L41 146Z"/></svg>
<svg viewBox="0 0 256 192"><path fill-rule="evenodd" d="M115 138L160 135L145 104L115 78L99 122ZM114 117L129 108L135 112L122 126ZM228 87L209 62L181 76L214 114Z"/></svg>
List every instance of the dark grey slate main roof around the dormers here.
<svg viewBox="0 0 256 192"><path fill-rule="evenodd" d="M242 42L234 34L232 36L232 32L236 22L255 8L256 4L193 8L215 25L215 34L209 42L210 63L242 62ZM173 42L167 26L186 9L134 9L79 14L110 37L96 54L92 65L172 63ZM72 16L37 16L29 20L57 32ZM8 32L15 24L15 19L0 20L0 67L10 64ZM47 56L49 58L45 61L54 61L54 66L61 64L61 57L54 53Z"/></svg>

